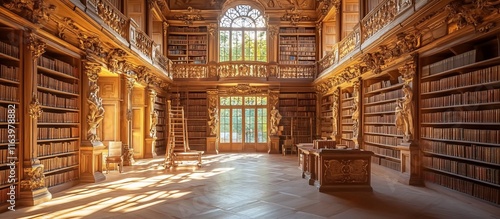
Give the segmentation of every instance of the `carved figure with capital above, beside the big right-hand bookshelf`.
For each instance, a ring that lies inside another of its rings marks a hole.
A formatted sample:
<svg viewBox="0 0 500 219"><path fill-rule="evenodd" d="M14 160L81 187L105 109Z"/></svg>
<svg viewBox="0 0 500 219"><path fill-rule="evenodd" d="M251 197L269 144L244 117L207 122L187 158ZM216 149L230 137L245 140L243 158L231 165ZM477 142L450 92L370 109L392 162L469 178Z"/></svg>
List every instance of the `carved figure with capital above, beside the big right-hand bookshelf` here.
<svg viewBox="0 0 500 219"><path fill-rule="evenodd" d="M415 77L415 63L408 62L399 68L403 76L403 97L397 101L396 105L396 127L403 132L403 141L409 142L414 139L415 107L413 102L413 78Z"/></svg>

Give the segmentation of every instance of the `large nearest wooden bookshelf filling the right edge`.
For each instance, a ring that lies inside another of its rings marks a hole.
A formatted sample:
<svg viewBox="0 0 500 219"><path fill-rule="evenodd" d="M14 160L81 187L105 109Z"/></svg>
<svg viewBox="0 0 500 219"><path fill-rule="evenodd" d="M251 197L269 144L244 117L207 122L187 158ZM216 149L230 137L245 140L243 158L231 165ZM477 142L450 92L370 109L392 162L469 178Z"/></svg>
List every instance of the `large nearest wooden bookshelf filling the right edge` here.
<svg viewBox="0 0 500 219"><path fill-rule="evenodd" d="M500 204L498 36L421 57L424 179Z"/></svg>

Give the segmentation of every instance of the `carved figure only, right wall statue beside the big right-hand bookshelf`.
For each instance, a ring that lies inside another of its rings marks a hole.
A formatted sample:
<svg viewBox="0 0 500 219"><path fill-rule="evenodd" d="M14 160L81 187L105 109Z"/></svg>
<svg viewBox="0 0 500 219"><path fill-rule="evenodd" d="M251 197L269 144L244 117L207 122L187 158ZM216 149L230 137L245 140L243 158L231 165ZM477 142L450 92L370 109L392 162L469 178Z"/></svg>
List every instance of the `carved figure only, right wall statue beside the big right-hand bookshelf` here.
<svg viewBox="0 0 500 219"><path fill-rule="evenodd" d="M413 91L408 84L403 86L403 98L399 99L396 106L396 127L403 132L403 140L413 140Z"/></svg>

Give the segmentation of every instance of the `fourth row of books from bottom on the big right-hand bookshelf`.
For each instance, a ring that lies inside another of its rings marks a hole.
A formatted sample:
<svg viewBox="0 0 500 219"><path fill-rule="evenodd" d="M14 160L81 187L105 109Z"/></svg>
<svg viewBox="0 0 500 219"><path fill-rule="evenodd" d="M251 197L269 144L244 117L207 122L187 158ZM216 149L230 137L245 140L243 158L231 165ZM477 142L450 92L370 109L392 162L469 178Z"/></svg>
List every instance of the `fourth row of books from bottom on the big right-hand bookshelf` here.
<svg viewBox="0 0 500 219"><path fill-rule="evenodd" d="M426 138L500 144L500 130L421 127L420 131Z"/></svg>

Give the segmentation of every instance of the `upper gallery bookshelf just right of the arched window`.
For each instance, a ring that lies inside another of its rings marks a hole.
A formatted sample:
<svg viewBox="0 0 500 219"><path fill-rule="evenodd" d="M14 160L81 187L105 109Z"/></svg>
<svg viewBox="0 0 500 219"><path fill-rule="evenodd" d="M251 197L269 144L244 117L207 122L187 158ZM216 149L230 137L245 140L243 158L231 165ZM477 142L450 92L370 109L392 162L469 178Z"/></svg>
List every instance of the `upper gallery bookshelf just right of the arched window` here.
<svg viewBox="0 0 500 219"><path fill-rule="evenodd" d="M282 27L279 33L279 63L314 65L316 62L316 28Z"/></svg>

